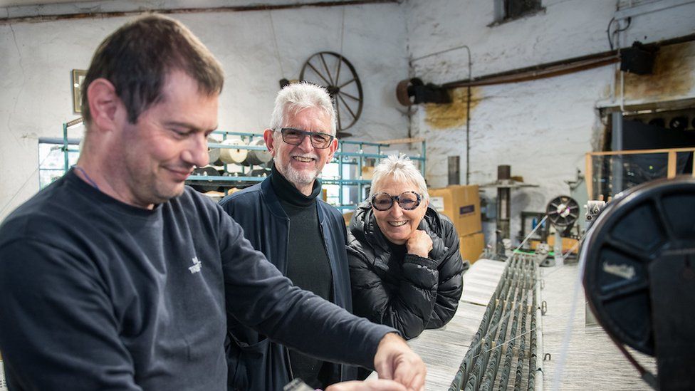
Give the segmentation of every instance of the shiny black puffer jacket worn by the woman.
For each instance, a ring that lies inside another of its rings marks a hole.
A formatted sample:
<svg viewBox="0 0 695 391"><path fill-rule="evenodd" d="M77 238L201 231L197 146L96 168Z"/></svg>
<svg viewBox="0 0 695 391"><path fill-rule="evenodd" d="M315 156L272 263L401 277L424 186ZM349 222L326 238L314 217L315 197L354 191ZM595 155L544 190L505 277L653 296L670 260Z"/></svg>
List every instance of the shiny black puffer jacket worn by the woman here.
<svg viewBox="0 0 695 391"><path fill-rule="evenodd" d="M406 339L451 320L469 267L447 217L428 207L418 229L432 238L429 258L394 255L368 202L357 207L348 229L353 312L396 328Z"/></svg>

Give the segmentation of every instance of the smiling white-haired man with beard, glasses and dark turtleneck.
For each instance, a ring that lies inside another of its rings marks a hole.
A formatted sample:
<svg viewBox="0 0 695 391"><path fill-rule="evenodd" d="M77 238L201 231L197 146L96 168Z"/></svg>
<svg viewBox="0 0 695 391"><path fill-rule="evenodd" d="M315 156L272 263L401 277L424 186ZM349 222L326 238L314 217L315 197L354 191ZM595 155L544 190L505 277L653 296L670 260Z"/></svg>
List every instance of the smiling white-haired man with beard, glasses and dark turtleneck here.
<svg viewBox="0 0 695 391"><path fill-rule="evenodd" d="M317 199L316 178L338 147L326 90L308 83L283 88L263 138L274 158L271 176L231 194L221 206L296 286L352 311L345 223L338 209ZM229 350L229 364L245 368L234 380L238 388L271 390L296 377L325 388L356 377L355 367L268 345L264 335L241 326L232 331Z"/></svg>

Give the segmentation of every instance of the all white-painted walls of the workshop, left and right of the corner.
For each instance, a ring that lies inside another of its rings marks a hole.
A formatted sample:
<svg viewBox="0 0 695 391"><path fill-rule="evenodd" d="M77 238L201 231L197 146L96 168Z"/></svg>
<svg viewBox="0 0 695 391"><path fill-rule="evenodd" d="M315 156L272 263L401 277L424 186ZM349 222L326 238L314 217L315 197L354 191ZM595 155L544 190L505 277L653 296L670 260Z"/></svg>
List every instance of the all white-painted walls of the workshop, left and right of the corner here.
<svg viewBox="0 0 695 391"><path fill-rule="evenodd" d="M286 4L267 0L265 4ZM252 4L207 0L194 6ZM36 7L0 8L0 16L52 12L132 11L187 6L187 1L86 1ZM219 123L225 130L262 130L282 77L297 78L317 51L340 51L357 68L365 88L362 118L349 131L355 139L427 137L427 180L446 185L446 157L461 156L465 167L465 122L446 129L428 125L427 110L407 109L394 98L399 80L417 75L426 82L468 78L465 50L415 61L408 58L456 46L471 48L474 78L609 49L605 30L615 11L611 0L544 0L545 11L491 26L493 1L407 0L400 4L335 6L278 11L175 14L224 65L227 81ZM616 45L684 36L694 32L694 4L636 16ZM271 32L273 16L282 68ZM95 46L127 18L0 24L0 219L38 189L38 137L61 137L61 124L76 118L70 97L70 70L86 68ZM558 78L477 88L471 111L471 183L496 179L496 167L539 184L513 192L512 234L522 210L543 210L568 193L565 180L583 171L584 154L595 147L603 125L595 107L616 102L611 95L614 67ZM694 95L692 92L689 95ZM412 132L409 132L409 128ZM417 152L417 151L412 151ZM465 178L464 178L465 179ZM494 192L489 195L493 196ZM491 238L490 224L486 233Z"/></svg>

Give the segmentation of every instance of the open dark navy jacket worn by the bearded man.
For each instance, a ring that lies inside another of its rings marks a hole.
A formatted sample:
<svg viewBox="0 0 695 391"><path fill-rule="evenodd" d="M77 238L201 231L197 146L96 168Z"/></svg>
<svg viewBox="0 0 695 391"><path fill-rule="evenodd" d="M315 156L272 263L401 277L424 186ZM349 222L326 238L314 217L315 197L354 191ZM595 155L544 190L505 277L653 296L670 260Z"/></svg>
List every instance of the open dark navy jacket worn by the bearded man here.
<svg viewBox="0 0 695 391"><path fill-rule="evenodd" d="M271 178L225 197L220 206L244 229L254 249L283 274L287 271L289 219ZM333 303L352 311L345 221L338 209L317 199L318 220L333 274ZM233 320L227 353L230 390L282 390L291 380L286 348ZM340 365L340 379L354 380L356 367Z"/></svg>

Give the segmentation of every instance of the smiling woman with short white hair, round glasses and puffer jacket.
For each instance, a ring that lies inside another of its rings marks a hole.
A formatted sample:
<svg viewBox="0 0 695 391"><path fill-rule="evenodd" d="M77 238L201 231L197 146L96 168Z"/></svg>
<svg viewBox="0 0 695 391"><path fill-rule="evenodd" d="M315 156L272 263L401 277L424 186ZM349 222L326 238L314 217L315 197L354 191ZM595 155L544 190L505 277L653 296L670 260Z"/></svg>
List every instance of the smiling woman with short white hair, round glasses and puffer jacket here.
<svg viewBox="0 0 695 391"><path fill-rule="evenodd" d="M370 198L352 216L348 260L355 315L406 339L451 320L468 269L454 224L429 207L422 174L395 155L377 165Z"/></svg>

